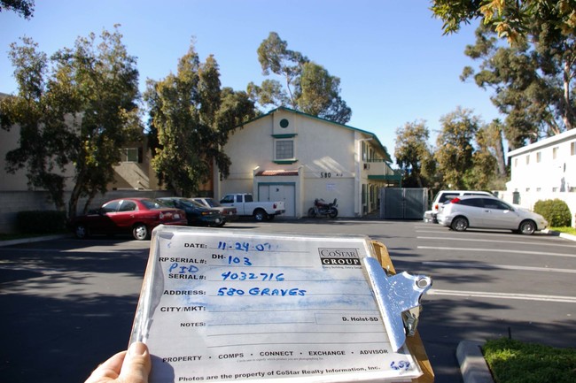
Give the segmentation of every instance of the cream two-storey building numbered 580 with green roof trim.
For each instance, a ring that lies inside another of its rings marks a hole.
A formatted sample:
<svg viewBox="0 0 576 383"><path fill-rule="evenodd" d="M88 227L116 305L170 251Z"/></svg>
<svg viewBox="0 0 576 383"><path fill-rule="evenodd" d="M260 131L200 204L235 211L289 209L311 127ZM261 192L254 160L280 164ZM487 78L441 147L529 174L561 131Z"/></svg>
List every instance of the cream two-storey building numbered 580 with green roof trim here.
<svg viewBox="0 0 576 383"><path fill-rule="evenodd" d="M284 201L285 217L306 216L315 198L338 199L339 217L362 217L378 209L381 188L400 182L375 134L287 108L237 127L224 152L230 176L214 174L214 196Z"/></svg>

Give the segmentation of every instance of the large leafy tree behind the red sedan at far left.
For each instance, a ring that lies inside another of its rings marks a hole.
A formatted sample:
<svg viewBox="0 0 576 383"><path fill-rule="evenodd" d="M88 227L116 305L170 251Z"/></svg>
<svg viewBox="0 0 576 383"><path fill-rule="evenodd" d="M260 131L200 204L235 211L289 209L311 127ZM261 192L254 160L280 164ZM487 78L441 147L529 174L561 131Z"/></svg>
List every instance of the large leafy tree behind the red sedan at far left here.
<svg viewBox="0 0 576 383"><path fill-rule="evenodd" d="M50 59L30 39L12 44L18 96L2 105L2 127L20 126L19 148L6 155L7 171L26 168L29 185L49 191L64 209L66 168L73 167L68 217L81 197L104 193L114 180L121 148L142 134L136 58L128 55L121 34L104 31L78 38L74 49Z"/></svg>

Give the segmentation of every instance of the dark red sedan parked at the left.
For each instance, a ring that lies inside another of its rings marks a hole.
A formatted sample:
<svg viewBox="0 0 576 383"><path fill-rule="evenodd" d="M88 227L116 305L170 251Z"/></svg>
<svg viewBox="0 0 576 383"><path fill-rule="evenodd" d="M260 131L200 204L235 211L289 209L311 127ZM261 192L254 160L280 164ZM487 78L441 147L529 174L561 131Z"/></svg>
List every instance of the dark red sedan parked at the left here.
<svg viewBox="0 0 576 383"><path fill-rule="evenodd" d="M121 198L76 217L72 222L78 238L90 234L131 233L140 241L149 239L152 229L160 224L186 225L186 213L150 198Z"/></svg>

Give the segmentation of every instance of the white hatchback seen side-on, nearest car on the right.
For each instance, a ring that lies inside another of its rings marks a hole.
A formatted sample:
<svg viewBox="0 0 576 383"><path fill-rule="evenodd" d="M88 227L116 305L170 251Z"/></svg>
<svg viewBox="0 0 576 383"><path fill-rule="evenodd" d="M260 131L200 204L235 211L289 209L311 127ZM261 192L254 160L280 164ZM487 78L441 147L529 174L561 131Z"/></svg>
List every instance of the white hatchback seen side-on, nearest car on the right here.
<svg viewBox="0 0 576 383"><path fill-rule="evenodd" d="M450 226L457 232L463 232L468 227L479 227L533 234L548 226L540 214L487 195L455 197L440 207L437 218L440 225Z"/></svg>

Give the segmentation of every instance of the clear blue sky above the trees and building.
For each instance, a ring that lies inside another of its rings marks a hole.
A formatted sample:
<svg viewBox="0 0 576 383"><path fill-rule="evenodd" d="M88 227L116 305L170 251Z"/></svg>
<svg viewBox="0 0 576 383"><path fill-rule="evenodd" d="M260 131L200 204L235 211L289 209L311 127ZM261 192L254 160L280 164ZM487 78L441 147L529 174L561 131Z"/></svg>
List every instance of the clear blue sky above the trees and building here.
<svg viewBox="0 0 576 383"><path fill-rule="evenodd" d="M266 79L257 50L276 32L288 49L339 77L340 96L352 109L346 125L376 134L393 156L396 130L407 123L424 121L433 146L440 118L458 106L486 123L499 117L489 91L460 80L464 66L479 64L463 54L478 23L443 35L430 6L427 0L35 0L32 19L0 12L0 92L18 91L8 52L20 37L50 56L116 24L128 54L137 57L141 91L146 79L175 73L192 39L201 61L214 55L222 87L245 90Z"/></svg>

